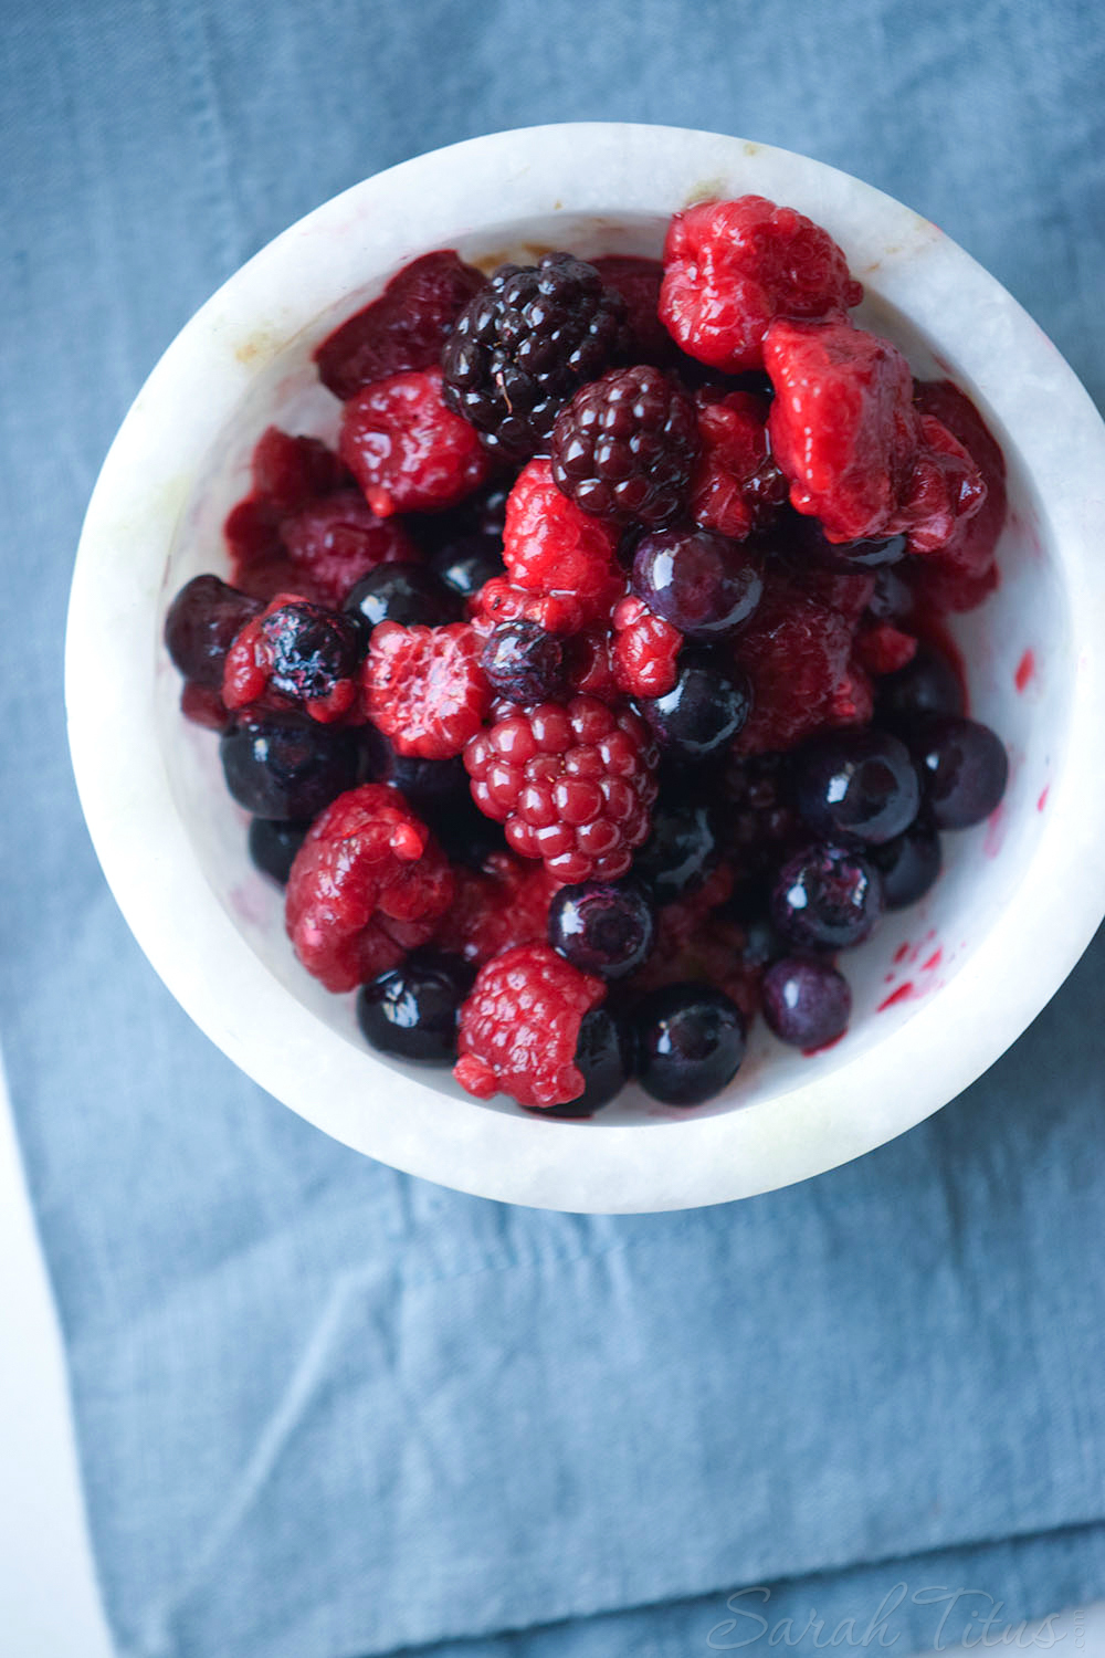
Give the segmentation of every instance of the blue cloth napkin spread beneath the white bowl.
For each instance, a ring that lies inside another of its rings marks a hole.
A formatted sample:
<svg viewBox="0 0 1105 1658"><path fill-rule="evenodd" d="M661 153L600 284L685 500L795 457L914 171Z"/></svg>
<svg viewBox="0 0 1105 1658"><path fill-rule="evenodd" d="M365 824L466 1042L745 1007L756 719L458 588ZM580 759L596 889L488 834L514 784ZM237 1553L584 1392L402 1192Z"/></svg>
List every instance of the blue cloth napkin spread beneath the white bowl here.
<svg viewBox="0 0 1105 1658"><path fill-rule="evenodd" d="M694 1214L500 1207L330 1142L189 1025L94 864L60 693L81 512L159 351L285 224L474 133L669 121L843 166L1100 398L1098 18L8 8L0 1033L119 1653L906 1653L1102 1593L1102 940L981 1083L850 1167Z"/></svg>

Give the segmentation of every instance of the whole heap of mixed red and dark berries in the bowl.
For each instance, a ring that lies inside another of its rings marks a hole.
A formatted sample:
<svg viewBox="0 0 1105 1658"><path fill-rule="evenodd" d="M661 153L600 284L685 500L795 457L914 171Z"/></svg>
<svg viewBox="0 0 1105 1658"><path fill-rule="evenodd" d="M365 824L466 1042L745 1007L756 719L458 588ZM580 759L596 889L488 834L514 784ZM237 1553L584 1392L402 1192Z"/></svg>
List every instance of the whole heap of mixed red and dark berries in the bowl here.
<svg viewBox="0 0 1105 1658"><path fill-rule="evenodd" d="M840 952L1001 801L941 618L996 585L1002 454L861 297L746 196L663 260L426 254L318 348L336 453L262 434L166 643L371 1046L697 1106L759 1013L847 1031Z"/></svg>

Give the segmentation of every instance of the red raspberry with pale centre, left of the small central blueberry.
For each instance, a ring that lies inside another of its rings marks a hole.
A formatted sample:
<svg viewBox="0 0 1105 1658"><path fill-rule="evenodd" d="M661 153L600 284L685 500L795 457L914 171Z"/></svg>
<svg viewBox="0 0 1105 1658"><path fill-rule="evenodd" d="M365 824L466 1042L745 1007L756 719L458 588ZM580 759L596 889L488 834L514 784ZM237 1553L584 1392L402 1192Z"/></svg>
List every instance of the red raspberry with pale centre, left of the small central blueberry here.
<svg viewBox="0 0 1105 1658"><path fill-rule="evenodd" d="M364 706L396 753L447 759L475 736L490 700L479 662L482 643L466 622L381 622L373 628Z"/></svg>

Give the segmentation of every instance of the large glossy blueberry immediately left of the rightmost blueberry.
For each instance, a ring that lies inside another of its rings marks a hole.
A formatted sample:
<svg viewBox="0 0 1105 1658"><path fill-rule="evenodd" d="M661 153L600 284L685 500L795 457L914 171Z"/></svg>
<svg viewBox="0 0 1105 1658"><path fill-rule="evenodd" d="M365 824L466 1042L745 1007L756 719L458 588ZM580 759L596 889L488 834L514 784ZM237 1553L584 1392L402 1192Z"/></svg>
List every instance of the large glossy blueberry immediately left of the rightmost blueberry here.
<svg viewBox="0 0 1105 1658"><path fill-rule="evenodd" d="M910 749L873 728L815 736L795 754L792 778L802 817L827 841L891 841L921 802Z"/></svg>

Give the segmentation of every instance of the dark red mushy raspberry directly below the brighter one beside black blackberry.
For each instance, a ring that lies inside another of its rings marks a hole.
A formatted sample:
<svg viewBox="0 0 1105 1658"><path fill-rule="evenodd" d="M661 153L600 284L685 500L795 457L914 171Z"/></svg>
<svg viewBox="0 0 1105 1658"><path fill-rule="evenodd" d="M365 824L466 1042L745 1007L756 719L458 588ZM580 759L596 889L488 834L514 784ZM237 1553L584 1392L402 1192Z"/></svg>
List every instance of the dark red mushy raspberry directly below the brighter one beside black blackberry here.
<svg viewBox="0 0 1105 1658"><path fill-rule="evenodd" d="M321 604L340 610L378 564L411 564L419 550L398 519L378 519L364 496L341 489L280 524L288 565Z"/></svg>

